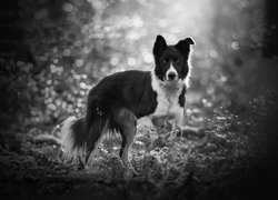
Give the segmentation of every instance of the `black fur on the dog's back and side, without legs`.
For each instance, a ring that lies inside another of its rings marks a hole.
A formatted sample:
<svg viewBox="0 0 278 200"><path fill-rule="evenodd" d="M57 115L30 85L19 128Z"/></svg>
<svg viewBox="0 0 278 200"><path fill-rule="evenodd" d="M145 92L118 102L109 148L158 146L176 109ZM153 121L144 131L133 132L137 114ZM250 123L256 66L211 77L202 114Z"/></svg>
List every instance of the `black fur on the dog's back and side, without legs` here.
<svg viewBox="0 0 278 200"><path fill-rule="evenodd" d="M102 79L89 93L87 116L95 117L96 108L105 116L122 108L130 110L137 118L152 113L157 107L157 93L150 82L150 72L136 70Z"/></svg>

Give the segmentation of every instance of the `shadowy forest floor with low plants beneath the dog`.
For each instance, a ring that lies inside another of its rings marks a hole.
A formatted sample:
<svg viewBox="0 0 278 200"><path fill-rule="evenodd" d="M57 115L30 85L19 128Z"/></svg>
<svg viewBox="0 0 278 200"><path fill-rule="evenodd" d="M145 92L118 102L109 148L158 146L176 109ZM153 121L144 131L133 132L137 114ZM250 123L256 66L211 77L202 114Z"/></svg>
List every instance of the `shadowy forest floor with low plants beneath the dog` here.
<svg viewBox="0 0 278 200"><path fill-rule="evenodd" d="M193 120L197 124L201 113L190 114L189 121ZM146 138L141 138L145 142L136 142L132 148L132 166L139 176L129 180L122 178L123 168L117 156L117 148L115 151L113 148L100 148L87 168L79 170L77 164L61 161L56 134L43 133L37 128L27 134L12 134L13 137L6 137L6 146L0 149L1 197L266 199L272 193L276 194L276 184L272 181L277 181L278 177L278 129L271 120L276 117L274 114L277 116L276 112L270 116L262 114L250 122L249 118L238 119L236 114L219 111L217 118L209 120L212 127L206 130L206 141L203 136L187 136L183 143L187 146L183 168L177 168L172 157L168 157L167 168L163 168L165 162L160 162L156 154L146 151L138 153L148 143ZM252 113L252 118L255 116ZM140 136L153 132L157 133L150 127L142 126L138 130L139 140ZM162 148L161 141L163 138L158 137L150 146ZM175 151L175 148L171 151Z"/></svg>

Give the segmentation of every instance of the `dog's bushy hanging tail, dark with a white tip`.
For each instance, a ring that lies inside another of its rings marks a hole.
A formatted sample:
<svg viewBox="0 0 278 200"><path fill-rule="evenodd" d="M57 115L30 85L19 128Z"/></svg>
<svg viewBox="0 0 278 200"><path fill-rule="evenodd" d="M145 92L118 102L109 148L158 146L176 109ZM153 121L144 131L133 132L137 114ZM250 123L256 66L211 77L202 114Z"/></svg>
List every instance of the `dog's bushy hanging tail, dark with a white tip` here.
<svg viewBox="0 0 278 200"><path fill-rule="evenodd" d="M83 118L70 117L62 122L60 138L63 159L77 160L78 156L85 151L82 143L77 140L77 136L83 132Z"/></svg>

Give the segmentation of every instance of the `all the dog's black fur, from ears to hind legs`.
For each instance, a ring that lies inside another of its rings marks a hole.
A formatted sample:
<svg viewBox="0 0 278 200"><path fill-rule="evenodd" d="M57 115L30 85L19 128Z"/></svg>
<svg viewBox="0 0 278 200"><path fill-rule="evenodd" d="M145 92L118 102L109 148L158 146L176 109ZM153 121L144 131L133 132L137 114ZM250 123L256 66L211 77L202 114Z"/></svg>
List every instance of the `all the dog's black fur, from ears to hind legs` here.
<svg viewBox="0 0 278 200"><path fill-rule="evenodd" d="M91 89L86 116L71 126L72 148L83 148L87 151L86 162L101 132L107 128L121 133L120 156L123 158L125 167L129 168L127 152L136 134L137 119L152 114L157 109L158 93L151 82L156 78L163 82L170 64L175 67L178 78L183 80L189 70L190 44L193 44L193 41L187 38L176 46L167 46L163 37L158 36L153 46L155 74L136 70L118 72L106 77ZM182 84L178 99L181 109L185 107L186 89L186 84Z"/></svg>

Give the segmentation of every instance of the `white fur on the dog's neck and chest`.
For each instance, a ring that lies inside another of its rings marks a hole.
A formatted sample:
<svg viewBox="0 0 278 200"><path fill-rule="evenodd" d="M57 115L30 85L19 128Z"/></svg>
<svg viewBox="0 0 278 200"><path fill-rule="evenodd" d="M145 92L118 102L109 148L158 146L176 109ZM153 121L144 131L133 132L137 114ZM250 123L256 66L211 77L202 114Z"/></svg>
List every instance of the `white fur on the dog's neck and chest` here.
<svg viewBox="0 0 278 200"><path fill-rule="evenodd" d="M185 82L182 80L176 81L160 81L155 72L151 72L151 87L157 92L157 108L150 116L153 117L170 117L173 128L181 126L183 118L183 108L179 104L179 96L181 93Z"/></svg>

